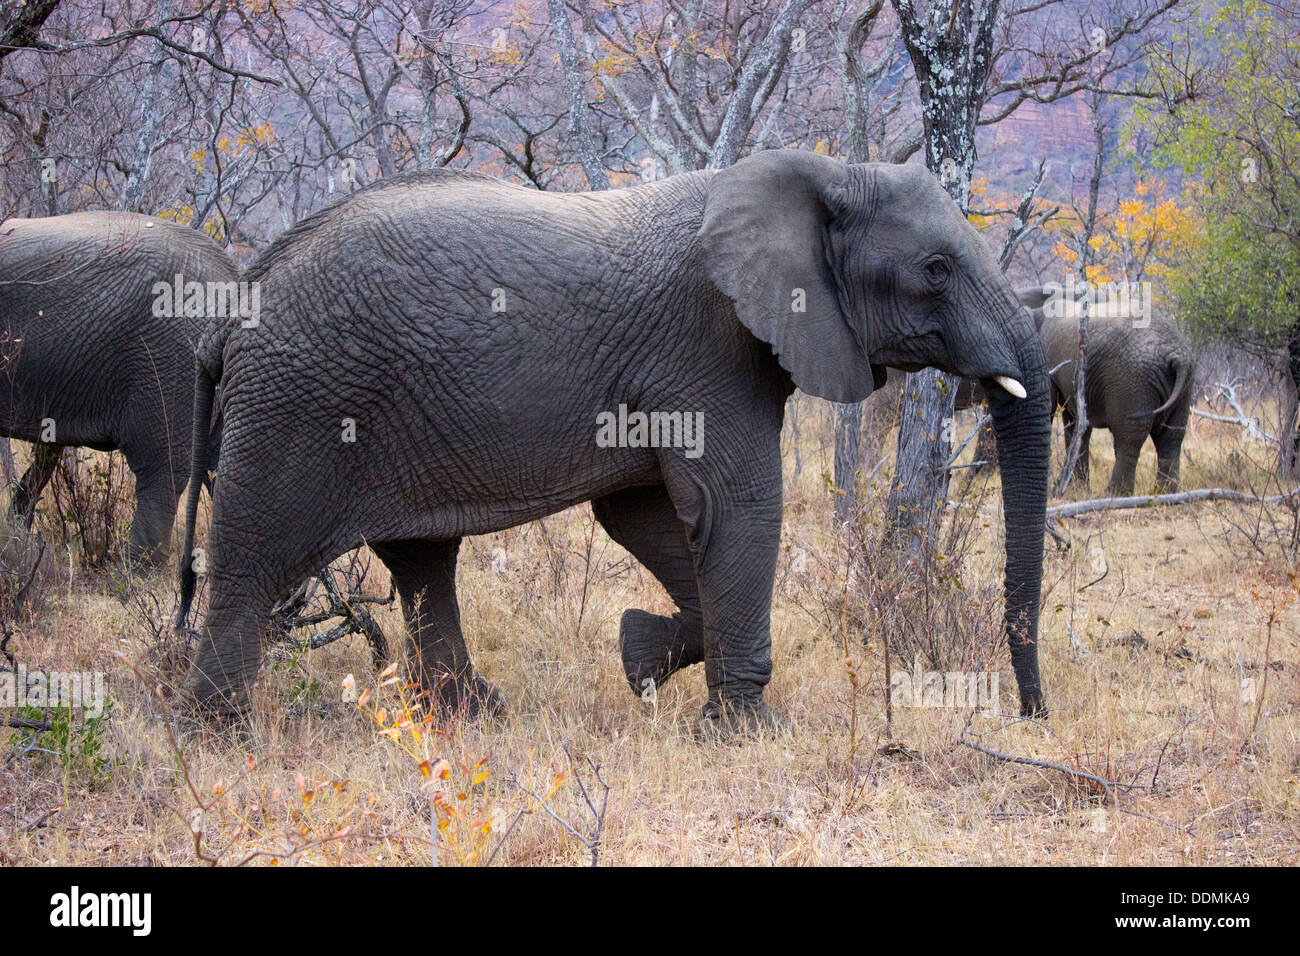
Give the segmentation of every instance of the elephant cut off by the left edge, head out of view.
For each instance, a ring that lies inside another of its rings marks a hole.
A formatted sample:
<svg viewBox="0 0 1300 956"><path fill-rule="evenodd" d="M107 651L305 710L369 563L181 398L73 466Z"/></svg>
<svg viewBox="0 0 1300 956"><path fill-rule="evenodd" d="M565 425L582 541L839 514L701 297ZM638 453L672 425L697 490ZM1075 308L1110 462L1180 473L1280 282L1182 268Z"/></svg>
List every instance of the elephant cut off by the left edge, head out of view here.
<svg viewBox="0 0 1300 956"><path fill-rule="evenodd" d="M153 315L155 282L178 273L238 274L207 237L148 216L0 224L0 434L35 445L10 509L31 522L62 447L118 449L135 475L126 557L140 566L166 561L190 471L194 355L207 320ZM43 441L47 419L53 442Z"/></svg>

